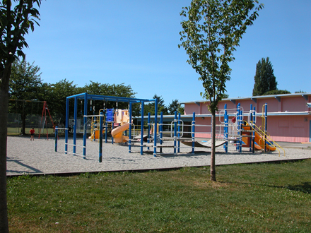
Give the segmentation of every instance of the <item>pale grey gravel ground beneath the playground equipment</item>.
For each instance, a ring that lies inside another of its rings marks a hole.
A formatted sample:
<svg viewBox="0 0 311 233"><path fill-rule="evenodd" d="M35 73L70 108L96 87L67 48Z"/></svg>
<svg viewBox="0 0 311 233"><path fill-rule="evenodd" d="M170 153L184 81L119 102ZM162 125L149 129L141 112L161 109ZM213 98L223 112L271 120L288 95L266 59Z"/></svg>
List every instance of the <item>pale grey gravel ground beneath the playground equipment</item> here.
<svg viewBox="0 0 311 233"><path fill-rule="evenodd" d="M173 148L163 148L163 154L153 157L153 148L148 152L144 148L143 155L140 147L132 147L131 153L127 145L117 143L103 143L102 162L98 162L98 142L87 141L86 159L80 156L64 153L64 138L58 141L58 152L54 151L54 138L8 137L7 170L8 176L18 174L59 174L76 172L107 172L136 169L163 169L173 167L208 166L211 164L210 149L196 148L192 154L192 148L181 144L182 148L177 155L173 154ZM72 143L72 140L69 141ZM171 141L165 143L172 143ZM77 145L83 145L82 138L77 139ZM223 147L216 148L216 165L230 165L250 162L266 162L278 160L297 160L311 158L311 144L281 143L284 147L281 156L278 151L254 154L243 148L242 153L229 147L229 153L224 153ZM78 147L76 153L82 154L82 148ZM72 145L69 145L72 151Z"/></svg>

